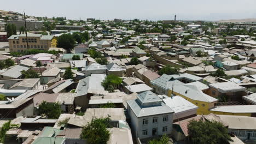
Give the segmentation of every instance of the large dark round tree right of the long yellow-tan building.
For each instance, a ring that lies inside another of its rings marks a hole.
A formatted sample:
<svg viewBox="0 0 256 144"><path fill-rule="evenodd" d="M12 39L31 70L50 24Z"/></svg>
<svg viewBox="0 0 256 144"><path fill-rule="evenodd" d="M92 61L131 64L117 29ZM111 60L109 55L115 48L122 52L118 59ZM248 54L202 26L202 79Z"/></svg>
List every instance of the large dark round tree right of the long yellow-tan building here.
<svg viewBox="0 0 256 144"><path fill-rule="evenodd" d="M62 47L70 52L74 48L75 40L71 34L62 34L57 38L57 47Z"/></svg>

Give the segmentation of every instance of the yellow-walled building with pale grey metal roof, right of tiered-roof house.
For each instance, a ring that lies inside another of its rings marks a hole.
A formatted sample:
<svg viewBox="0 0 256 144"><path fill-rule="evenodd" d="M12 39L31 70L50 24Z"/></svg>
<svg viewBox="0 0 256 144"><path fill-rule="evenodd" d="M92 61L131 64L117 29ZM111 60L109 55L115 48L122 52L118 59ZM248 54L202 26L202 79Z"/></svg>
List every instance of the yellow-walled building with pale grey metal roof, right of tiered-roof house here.
<svg viewBox="0 0 256 144"><path fill-rule="evenodd" d="M184 99L190 101L194 105L198 106L199 109L197 109L197 115L210 114L210 109L212 109L214 105L218 102L218 99L203 93L201 89L190 83L176 85L173 86L173 88L169 88L168 97L171 97L171 95L179 95Z"/></svg>

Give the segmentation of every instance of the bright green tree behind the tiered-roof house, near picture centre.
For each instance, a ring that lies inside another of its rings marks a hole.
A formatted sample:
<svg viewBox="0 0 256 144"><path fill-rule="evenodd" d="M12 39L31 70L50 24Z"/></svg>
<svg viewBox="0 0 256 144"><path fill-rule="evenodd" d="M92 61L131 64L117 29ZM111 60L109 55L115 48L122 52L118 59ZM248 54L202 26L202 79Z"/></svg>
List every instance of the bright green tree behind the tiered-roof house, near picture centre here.
<svg viewBox="0 0 256 144"><path fill-rule="evenodd" d="M114 89L118 89L119 88L119 86L121 85L122 81L123 80L119 76L110 74L110 75L107 75L105 80L103 80L101 82L101 85L104 87L104 89L106 91L113 92Z"/></svg>

